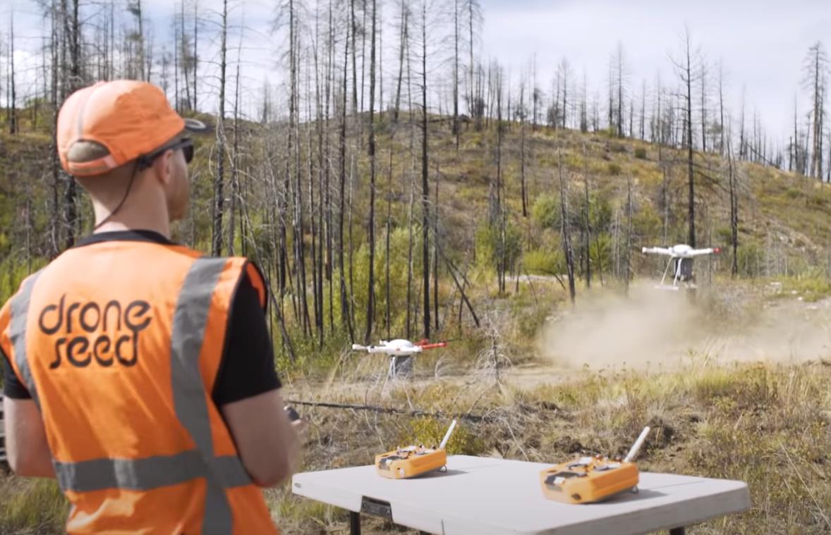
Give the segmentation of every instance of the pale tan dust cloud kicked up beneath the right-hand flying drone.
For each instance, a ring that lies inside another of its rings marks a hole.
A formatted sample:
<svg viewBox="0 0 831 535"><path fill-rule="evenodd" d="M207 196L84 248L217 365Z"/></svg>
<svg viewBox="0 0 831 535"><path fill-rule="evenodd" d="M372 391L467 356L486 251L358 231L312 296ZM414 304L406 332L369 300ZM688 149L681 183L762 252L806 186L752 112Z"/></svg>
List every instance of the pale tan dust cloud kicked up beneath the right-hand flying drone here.
<svg viewBox="0 0 831 535"><path fill-rule="evenodd" d="M643 282L629 298L584 293L573 310L548 318L538 345L541 356L568 368L831 359L831 300L807 303L735 287L699 288L691 299Z"/></svg>

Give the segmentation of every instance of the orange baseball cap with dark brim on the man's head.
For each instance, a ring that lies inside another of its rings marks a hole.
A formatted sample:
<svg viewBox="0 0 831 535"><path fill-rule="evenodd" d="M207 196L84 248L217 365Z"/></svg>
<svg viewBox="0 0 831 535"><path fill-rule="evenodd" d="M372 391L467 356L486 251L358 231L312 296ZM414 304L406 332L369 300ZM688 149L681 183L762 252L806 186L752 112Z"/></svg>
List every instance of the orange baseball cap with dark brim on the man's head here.
<svg viewBox="0 0 831 535"><path fill-rule="evenodd" d="M206 130L199 120L183 119L165 93L145 81L99 81L72 93L57 116L57 151L63 169L75 176L103 174L164 145L182 130ZM93 141L108 154L71 161L78 141Z"/></svg>

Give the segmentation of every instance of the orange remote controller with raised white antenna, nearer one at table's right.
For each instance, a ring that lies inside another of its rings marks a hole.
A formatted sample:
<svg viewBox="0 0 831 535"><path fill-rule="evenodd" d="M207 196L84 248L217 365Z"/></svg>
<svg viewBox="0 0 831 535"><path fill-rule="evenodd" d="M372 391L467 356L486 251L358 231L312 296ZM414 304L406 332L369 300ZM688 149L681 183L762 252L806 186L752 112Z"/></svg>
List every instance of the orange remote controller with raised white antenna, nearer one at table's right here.
<svg viewBox="0 0 831 535"><path fill-rule="evenodd" d="M623 460L597 455L556 464L539 474L545 498L563 503L596 503L636 489L640 473L632 462L649 434L643 429Z"/></svg>

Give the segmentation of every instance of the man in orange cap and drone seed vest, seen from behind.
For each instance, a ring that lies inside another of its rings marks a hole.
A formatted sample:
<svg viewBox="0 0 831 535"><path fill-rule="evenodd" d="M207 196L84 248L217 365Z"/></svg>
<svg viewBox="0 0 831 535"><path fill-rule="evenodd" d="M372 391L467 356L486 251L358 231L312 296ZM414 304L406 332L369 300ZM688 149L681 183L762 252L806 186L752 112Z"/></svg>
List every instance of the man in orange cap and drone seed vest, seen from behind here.
<svg viewBox="0 0 831 535"><path fill-rule="evenodd" d="M69 533L277 533L260 487L299 441L244 258L170 241L189 131L156 86L99 82L61 107L61 165L96 228L0 311L9 464L54 477Z"/></svg>

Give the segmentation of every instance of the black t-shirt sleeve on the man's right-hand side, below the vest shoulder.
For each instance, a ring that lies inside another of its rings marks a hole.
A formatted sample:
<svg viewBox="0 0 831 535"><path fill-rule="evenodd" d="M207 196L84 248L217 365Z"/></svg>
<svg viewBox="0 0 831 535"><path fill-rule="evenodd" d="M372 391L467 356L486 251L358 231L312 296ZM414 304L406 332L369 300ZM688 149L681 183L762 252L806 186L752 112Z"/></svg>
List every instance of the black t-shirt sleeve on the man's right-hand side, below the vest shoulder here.
<svg viewBox="0 0 831 535"><path fill-rule="evenodd" d="M222 406L280 386L265 312L248 272L243 271L230 306L212 399Z"/></svg>

